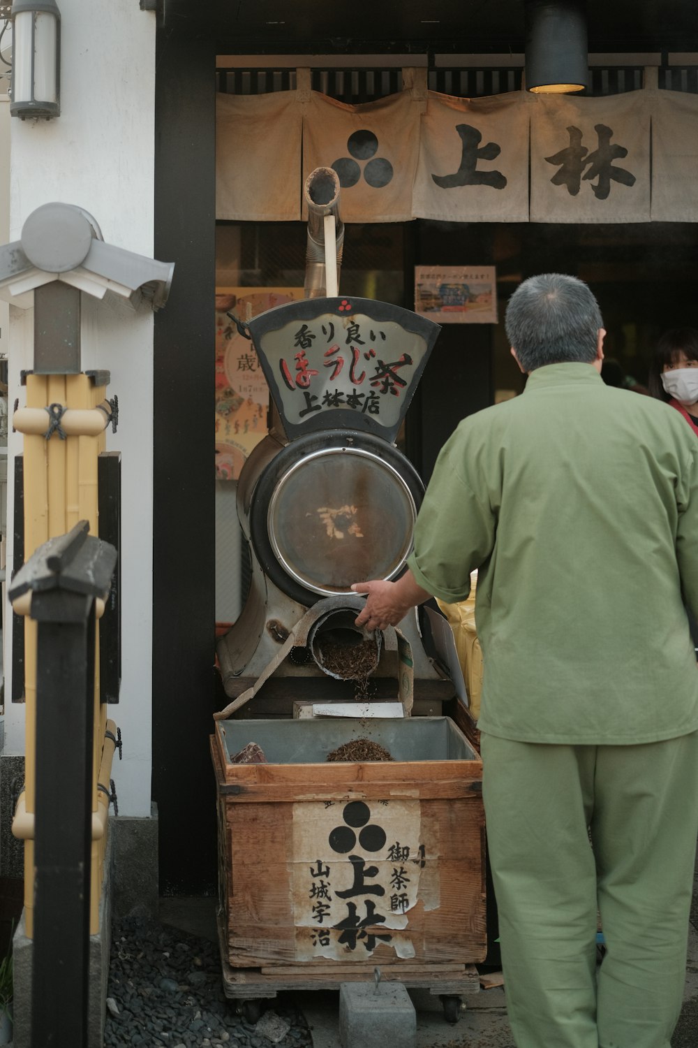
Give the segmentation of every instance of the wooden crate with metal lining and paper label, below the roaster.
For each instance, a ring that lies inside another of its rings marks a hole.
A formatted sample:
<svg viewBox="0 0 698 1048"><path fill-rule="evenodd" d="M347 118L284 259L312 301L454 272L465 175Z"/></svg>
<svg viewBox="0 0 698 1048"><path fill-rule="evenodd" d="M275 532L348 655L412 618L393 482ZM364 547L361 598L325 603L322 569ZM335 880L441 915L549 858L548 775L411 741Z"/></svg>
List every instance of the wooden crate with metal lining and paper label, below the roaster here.
<svg viewBox="0 0 698 1048"><path fill-rule="evenodd" d="M366 736L395 760L325 762ZM231 763L249 742L269 763ZM221 721L211 756L224 966L262 977L243 982L461 984L485 959L482 766L449 718Z"/></svg>

